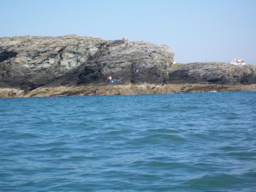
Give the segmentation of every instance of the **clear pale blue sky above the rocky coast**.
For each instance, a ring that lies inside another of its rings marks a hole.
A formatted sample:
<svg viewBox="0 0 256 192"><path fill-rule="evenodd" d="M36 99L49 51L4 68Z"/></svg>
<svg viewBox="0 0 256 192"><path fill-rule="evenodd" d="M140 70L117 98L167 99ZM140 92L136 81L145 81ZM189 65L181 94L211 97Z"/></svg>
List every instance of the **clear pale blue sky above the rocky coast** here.
<svg viewBox="0 0 256 192"><path fill-rule="evenodd" d="M80 36L167 44L177 62L256 64L256 0L0 0L0 37Z"/></svg>

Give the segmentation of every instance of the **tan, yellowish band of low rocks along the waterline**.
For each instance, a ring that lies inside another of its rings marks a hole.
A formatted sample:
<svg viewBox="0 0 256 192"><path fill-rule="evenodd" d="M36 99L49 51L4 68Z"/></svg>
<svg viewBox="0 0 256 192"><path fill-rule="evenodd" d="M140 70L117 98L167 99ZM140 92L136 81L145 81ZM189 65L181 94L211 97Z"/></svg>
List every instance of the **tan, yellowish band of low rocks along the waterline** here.
<svg viewBox="0 0 256 192"><path fill-rule="evenodd" d="M256 91L256 84L125 84L125 85L82 85L42 86L28 93L19 88L0 88L0 98L50 97L50 96L106 96L135 94L174 94L198 92Z"/></svg>

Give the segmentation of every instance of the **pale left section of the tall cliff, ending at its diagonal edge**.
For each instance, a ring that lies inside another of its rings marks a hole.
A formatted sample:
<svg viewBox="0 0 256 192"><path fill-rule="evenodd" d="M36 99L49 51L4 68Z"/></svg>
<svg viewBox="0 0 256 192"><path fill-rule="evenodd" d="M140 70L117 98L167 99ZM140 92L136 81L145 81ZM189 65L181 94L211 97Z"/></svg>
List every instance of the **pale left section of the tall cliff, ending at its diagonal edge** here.
<svg viewBox="0 0 256 192"><path fill-rule="evenodd" d="M0 85L33 89L92 58L105 41L62 36L0 38Z"/></svg>

